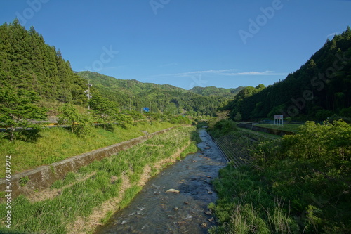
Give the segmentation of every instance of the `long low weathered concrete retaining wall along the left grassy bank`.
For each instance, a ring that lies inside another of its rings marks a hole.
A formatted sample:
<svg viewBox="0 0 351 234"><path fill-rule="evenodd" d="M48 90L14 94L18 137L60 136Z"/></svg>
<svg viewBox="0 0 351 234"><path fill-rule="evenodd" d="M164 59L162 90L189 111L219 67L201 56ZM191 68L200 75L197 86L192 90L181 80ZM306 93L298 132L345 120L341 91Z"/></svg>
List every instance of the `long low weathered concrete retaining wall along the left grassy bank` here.
<svg viewBox="0 0 351 234"><path fill-rule="evenodd" d="M21 172L20 174L15 174L11 176L11 197L18 197L18 195L29 195L33 191L41 191L45 188L49 188L51 184L59 179L65 178L66 174L70 171L77 171L79 168L84 167L95 160L102 160L105 157L110 157L112 155L117 155L118 152L127 150L128 148L133 147L147 141L147 139L152 138L153 136L164 134L171 129L174 129L178 126L164 129L161 131L154 132L152 134L147 134L145 136L140 136L129 141L124 141L111 145L105 148L100 148L98 150L93 150L91 152L86 152L81 155L74 157L69 157L66 160L61 162L55 162L53 164L37 167L29 171ZM28 176L29 181L25 187L20 186L20 178ZM0 191L6 191L6 180L5 178L0 179ZM2 200L3 197L0 197Z"/></svg>

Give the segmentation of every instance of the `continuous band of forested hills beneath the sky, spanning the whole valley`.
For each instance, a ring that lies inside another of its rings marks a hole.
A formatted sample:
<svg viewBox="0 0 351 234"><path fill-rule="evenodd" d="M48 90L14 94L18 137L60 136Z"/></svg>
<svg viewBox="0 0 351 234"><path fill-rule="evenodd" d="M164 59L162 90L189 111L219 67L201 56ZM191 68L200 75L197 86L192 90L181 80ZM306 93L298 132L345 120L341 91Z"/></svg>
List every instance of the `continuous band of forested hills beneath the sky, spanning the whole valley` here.
<svg viewBox="0 0 351 234"><path fill-rule="evenodd" d="M86 89L91 82L91 101L107 98L120 111L149 107L152 112L171 115L213 116L219 107L230 110L235 120L280 114L296 120L333 116L347 119L351 116L350 44L351 30L347 27L342 34L328 39L299 70L271 86L194 87L187 91L96 72L73 72L60 50L46 44L33 27L26 30L15 19L0 26L0 86L4 93L10 88L30 91L38 105L44 107L73 103L87 108Z"/></svg>

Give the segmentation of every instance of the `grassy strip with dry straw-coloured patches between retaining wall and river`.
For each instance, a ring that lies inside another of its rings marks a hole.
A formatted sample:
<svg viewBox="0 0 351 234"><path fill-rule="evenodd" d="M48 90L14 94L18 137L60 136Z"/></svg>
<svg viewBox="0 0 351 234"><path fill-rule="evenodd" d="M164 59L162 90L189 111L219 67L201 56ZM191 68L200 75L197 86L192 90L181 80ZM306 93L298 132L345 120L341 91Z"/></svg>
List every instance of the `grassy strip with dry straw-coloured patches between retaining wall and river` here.
<svg viewBox="0 0 351 234"><path fill-rule="evenodd" d="M194 127L176 128L69 173L50 190L21 195L12 202L12 233L89 233L125 207L150 176L196 152L197 141ZM0 204L0 214L5 213L6 204ZM0 233L8 231L1 226Z"/></svg>

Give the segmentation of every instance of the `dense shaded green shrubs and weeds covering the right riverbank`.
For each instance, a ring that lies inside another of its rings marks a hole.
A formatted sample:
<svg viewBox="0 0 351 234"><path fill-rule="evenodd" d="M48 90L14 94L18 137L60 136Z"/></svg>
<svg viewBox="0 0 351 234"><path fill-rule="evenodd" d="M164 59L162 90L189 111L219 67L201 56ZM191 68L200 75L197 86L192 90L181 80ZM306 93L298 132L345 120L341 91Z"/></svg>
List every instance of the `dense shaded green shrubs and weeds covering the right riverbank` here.
<svg viewBox="0 0 351 234"><path fill-rule="evenodd" d="M252 149L235 131L220 137L233 151ZM351 125L338 121L260 139L249 164L213 182L219 199L209 207L220 224L210 233L351 233L350 138Z"/></svg>

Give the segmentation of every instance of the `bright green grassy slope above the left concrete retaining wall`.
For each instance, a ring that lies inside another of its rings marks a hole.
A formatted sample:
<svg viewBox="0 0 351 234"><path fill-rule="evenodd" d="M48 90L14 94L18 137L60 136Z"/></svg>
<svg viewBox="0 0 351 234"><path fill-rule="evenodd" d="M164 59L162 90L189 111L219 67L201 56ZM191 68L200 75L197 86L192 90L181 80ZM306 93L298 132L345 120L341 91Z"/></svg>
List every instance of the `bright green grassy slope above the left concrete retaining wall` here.
<svg viewBox="0 0 351 234"><path fill-rule="evenodd" d="M51 164L65 160L74 155L96 150L122 141L128 141L138 136L143 136L143 131L152 133L167 129L175 124L168 122L138 123L128 128L116 126L114 129L105 130L101 127L91 129L91 134L86 137L77 136L67 129L44 129L39 136L29 135L27 141L10 142L0 138L1 155L0 164L5 164L5 155L11 155L13 173ZM0 177L5 175L5 167L0 168Z"/></svg>

